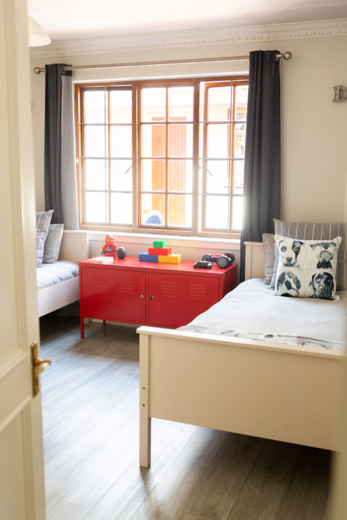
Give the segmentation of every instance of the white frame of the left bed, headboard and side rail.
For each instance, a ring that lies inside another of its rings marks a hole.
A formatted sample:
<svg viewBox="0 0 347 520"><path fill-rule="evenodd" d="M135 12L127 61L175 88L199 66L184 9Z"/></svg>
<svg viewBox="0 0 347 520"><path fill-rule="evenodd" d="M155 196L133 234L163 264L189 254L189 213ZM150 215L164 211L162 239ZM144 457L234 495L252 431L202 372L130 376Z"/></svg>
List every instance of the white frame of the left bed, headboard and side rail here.
<svg viewBox="0 0 347 520"><path fill-rule="evenodd" d="M64 230L59 260L70 260L81 262L89 258L89 235L88 231ZM80 277L76 276L65 282L50 285L45 289L37 291L38 316L52 313L54 310L65 307L76 302L80 298Z"/></svg>

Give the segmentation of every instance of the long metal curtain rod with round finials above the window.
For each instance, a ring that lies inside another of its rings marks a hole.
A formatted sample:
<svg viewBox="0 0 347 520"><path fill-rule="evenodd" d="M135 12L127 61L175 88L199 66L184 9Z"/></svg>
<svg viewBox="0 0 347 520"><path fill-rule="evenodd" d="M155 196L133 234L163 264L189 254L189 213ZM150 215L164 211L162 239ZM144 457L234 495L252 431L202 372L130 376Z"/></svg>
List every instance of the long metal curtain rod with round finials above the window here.
<svg viewBox="0 0 347 520"><path fill-rule="evenodd" d="M287 50L284 54L276 54L277 61L281 58L290 60L292 53ZM118 67L138 67L147 65L172 65L181 63L211 63L214 61L236 61L236 60L249 60L249 56L229 56L224 58L196 58L188 60L168 60L168 61L138 61L133 63L106 63L101 65L73 65L73 66L62 66L61 71L66 72L67 70L87 70L87 69L114 69ZM40 72L46 72L45 67L35 67L35 74Z"/></svg>

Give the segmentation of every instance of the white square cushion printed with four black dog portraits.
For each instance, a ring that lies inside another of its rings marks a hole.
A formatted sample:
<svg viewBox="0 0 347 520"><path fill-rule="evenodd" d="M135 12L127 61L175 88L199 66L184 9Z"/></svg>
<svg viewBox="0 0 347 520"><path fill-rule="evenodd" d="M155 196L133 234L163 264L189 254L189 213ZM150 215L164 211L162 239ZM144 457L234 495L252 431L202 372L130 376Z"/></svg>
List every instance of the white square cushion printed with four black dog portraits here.
<svg viewBox="0 0 347 520"><path fill-rule="evenodd" d="M274 294L298 298L339 299L336 263L341 237L296 240L275 235L278 268Z"/></svg>

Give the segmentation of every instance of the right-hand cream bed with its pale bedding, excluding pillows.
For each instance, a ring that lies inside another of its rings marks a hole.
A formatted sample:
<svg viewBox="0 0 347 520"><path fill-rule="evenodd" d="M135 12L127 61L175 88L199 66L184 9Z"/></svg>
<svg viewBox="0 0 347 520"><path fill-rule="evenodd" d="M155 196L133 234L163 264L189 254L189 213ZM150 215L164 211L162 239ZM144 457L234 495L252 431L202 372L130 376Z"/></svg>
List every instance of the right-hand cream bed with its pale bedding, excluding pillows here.
<svg viewBox="0 0 347 520"><path fill-rule="evenodd" d="M261 243L246 276L262 276ZM250 279L177 330L140 327L140 465L151 418L338 450L347 292L274 296Z"/></svg>

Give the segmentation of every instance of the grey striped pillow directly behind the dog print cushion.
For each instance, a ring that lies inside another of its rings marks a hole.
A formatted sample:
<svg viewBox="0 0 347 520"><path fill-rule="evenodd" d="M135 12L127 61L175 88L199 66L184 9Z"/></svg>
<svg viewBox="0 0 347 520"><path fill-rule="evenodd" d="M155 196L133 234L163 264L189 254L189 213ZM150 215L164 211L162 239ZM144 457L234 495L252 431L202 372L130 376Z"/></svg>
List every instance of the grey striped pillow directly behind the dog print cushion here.
<svg viewBox="0 0 347 520"><path fill-rule="evenodd" d="M315 223L315 222L284 222L274 218L275 235L282 237L296 238L301 240L330 240L341 237L342 242L337 254L336 265L336 285L337 290L347 289L346 274L346 248L347 248L347 222L336 223ZM270 287L275 289L276 275L278 266L278 249L275 246L275 266L274 276Z"/></svg>

